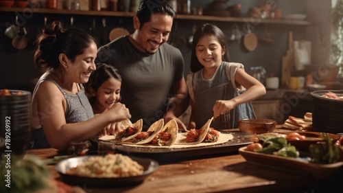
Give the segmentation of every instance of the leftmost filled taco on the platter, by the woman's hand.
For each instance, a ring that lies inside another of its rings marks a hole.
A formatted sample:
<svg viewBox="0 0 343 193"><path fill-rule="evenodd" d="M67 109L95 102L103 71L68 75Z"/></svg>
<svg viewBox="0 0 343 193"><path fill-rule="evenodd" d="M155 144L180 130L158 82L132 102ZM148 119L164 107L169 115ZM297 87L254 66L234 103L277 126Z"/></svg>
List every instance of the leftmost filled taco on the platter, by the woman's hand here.
<svg viewBox="0 0 343 193"><path fill-rule="evenodd" d="M143 128L143 120L140 119L134 124L128 119L121 121L121 131L117 135L104 135L99 137L102 141L127 141L138 135Z"/></svg>

